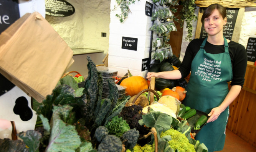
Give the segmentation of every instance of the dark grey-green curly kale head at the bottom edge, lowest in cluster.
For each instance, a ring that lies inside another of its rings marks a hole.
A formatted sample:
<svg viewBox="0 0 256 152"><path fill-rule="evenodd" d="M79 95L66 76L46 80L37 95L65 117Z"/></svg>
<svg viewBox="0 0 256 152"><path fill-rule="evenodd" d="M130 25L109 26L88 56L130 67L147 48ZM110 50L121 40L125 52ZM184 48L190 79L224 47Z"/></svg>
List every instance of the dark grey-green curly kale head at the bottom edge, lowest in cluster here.
<svg viewBox="0 0 256 152"><path fill-rule="evenodd" d="M121 152L122 142L119 137L107 135L99 144L98 152Z"/></svg>

